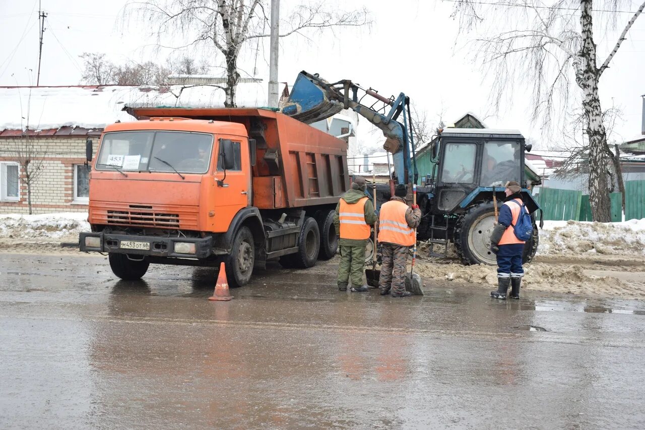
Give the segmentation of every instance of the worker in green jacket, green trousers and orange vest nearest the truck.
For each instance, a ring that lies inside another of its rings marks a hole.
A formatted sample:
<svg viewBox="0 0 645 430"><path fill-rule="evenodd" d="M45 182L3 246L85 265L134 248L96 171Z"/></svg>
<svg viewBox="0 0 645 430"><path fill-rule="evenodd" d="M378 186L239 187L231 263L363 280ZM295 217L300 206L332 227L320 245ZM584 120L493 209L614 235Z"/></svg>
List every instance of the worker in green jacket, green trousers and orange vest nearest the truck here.
<svg viewBox="0 0 645 430"><path fill-rule="evenodd" d="M357 176L352 189L342 194L333 215L333 225L339 234L341 262L338 265L338 289L347 291L351 278L352 292L365 292L362 282L365 265L365 245L370 239L370 225L376 222L372 200L365 194L365 178Z"/></svg>

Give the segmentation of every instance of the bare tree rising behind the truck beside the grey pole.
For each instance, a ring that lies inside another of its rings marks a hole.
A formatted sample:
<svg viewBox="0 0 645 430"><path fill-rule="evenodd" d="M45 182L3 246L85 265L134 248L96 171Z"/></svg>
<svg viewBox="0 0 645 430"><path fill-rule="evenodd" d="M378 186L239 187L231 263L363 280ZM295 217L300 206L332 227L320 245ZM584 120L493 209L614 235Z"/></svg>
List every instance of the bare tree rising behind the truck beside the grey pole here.
<svg viewBox="0 0 645 430"><path fill-rule="evenodd" d="M286 28L280 37L302 34L303 30L323 31L341 26L362 26L370 21L366 10L327 10L323 0L298 6L282 20ZM268 0L149 0L134 2L124 18L140 18L155 27L157 45L164 48L202 46L224 56L226 94L224 105L235 107L235 92L241 78L238 58L244 44L258 37L268 37ZM194 34L183 46L164 46L164 36Z"/></svg>

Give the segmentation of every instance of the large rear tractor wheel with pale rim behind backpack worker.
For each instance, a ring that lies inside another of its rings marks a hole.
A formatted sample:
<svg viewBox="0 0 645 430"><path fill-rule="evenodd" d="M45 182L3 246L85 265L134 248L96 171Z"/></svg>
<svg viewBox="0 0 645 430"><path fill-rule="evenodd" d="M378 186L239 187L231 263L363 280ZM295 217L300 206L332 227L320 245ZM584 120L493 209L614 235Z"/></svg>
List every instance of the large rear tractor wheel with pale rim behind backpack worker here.
<svg viewBox="0 0 645 430"><path fill-rule="evenodd" d="M498 203L498 208L501 205ZM490 251L490 234L495 222L492 201L477 203L468 208L457 221L453 240L457 255L464 264L496 265L497 258Z"/></svg>

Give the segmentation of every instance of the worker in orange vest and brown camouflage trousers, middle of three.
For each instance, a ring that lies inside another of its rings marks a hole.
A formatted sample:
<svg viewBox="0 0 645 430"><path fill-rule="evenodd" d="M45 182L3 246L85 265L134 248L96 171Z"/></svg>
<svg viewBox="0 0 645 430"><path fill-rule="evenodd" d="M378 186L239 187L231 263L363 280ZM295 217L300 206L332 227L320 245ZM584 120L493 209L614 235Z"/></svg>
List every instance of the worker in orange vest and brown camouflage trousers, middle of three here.
<svg viewBox="0 0 645 430"><path fill-rule="evenodd" d="M381 295L392 297L412 296L405 291L405 272L408 264L408 248L414 245L414 230L421 221L419 206L408 207L405 196L408 187L400 183L394 190L390 201L381 205L379 210L379 243L381 243L381 275L379 288Z"/></svg>

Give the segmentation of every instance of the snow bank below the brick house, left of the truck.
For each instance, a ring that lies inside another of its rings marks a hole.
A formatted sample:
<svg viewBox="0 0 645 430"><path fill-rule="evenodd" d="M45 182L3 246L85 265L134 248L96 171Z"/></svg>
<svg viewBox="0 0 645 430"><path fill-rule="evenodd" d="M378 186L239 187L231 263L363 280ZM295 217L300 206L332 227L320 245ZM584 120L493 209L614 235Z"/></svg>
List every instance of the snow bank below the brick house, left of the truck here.
<svg viewBox="0 0 645 430"><path fill-rule="evenodd" d="M0 238L63 238L90 231L87 212L0 215Z"/></svg>

